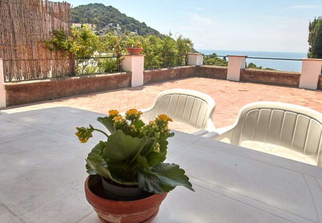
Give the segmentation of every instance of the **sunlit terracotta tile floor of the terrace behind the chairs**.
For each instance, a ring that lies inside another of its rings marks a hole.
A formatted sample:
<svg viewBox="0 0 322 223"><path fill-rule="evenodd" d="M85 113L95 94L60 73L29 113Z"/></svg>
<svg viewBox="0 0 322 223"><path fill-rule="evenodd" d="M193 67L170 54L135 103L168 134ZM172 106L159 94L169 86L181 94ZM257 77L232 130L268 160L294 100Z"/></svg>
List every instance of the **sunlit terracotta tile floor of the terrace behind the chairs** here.
<svg viewBox="0 0 322 223"><path fill-rule="evenodd" d="M291 103L322 112L321 90L306 90L198 77L13 106L2 111L13 113L58 106L100 113L107 113L110 109L119 111L126 111L131 108L144 109L152 106L158 93L171 88L193 89L212 96L216 103L213 117L216 127L232 124L242 106L257 101ZM192 129L188 129L186 125L182 124L172 125L171 127L186 132L192 131Z"/></svg>

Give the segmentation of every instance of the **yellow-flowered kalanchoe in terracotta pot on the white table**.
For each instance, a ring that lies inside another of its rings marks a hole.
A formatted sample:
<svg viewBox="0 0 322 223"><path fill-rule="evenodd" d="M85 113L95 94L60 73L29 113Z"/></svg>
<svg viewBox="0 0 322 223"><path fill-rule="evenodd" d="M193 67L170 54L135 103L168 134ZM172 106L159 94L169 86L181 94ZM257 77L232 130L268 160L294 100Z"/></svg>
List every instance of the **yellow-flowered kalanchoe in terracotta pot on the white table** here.
<svg viewBox="0 0 322 223"><path fill-rule="evenodd" d="M130 109L121 116L116 110L98 117L109 133L77 127L76 135L86 143L99 131L106 137L88 154L85 194L102 222L151 222L167 192L182 185L193 190L185 171L176 164L164 163L168 129L172 121L165 114L145 124L141 111Z"/></svg>

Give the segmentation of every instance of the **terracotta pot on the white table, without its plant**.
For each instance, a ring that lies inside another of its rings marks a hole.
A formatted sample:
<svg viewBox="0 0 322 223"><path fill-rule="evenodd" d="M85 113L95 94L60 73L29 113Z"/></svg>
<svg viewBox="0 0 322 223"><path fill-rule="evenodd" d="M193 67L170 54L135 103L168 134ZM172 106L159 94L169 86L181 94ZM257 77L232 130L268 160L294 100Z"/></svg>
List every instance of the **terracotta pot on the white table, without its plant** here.
<svg viewBox="0 0 322 223"><path fill-rule="evenodd" d="M85 181L86 199L103 223L150 223L157 216L166 194L134 201L114 201L107 199L100 176L89 175Z"/></svg>

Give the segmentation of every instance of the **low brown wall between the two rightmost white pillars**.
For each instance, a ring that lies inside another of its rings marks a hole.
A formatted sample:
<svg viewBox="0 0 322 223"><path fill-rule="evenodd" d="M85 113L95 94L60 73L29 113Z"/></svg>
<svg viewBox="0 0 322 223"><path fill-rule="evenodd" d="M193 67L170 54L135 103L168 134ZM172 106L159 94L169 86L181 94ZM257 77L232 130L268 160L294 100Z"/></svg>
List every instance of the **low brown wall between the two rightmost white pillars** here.
<svg viewBox="0 0 322 223"><path fill-rule="evenodd" d="M301 73L297 72L262 69L241 69L239 80L261 84L299 87L300 75Z"/></svg>

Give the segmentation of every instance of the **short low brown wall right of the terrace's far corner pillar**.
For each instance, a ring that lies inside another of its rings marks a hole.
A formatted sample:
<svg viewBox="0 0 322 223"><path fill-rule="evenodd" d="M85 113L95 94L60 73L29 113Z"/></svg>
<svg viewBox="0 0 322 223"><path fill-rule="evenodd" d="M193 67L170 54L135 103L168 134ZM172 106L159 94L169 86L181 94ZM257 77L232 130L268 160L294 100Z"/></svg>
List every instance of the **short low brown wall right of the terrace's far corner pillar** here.
<svg viewBox="0 0 322 223"><path fill-rule="evenodd" d="M227 67L209 65L198 66L196 76L225 80L227 78Z"/></svg>

